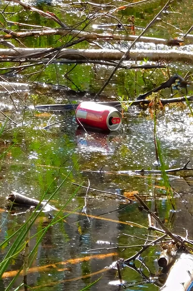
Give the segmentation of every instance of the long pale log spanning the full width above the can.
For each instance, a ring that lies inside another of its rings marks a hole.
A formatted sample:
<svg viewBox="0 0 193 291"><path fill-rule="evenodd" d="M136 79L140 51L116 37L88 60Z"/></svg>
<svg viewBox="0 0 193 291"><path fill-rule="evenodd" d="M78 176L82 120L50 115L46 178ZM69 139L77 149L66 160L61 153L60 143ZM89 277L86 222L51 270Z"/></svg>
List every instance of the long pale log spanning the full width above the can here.
<svg viewBox="0 0 193 291"><path fill-rule="evenodd" d="M34 53L49 52L49 49L25 49L25 48L15 48L15 49L0 49L0 59L5 59L5 57L18 57L18 59L25 59L27 57L35 58ZM119 51L117 49L61 49L57 53L57 58L60 59L89 59L89 60L114 60L119 61L126 50ZM56 55L56 52L49 54L49 58ZM182 61L193 63L193 52L170 49L170 50L150 50L150 49L131 49L127 60L143 60L147 59L149 61Z"/></svg>

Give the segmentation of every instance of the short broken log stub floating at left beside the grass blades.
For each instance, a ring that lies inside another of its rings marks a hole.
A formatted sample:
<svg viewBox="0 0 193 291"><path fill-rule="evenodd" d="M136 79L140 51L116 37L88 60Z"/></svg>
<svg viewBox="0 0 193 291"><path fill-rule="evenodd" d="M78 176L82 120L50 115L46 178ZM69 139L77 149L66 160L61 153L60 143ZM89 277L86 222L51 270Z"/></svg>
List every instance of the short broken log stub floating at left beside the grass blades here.
<svg viewBox="0 0 193 291"><path fill-rule="evenodd" d="M14 202L15 204L19 204L19 205L25 205L25 206L40 206L40 207L45 207L45 201L42 201L40 203L39 200L30 198L30 197L26 197L22 194L19 194L15 191L12 191L11 194L8 195L7 197L8 200ZM57 210L55 207L46 204L46 207L49 208L49 210Z"/></svg>

